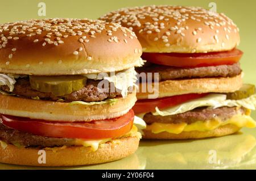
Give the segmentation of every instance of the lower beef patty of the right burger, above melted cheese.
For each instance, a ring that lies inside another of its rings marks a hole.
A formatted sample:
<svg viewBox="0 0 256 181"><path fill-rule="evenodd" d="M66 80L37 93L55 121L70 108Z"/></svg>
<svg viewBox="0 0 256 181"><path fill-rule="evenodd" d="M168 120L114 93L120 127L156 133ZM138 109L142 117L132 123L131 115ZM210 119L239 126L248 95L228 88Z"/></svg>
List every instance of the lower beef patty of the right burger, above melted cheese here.
<svg viewBox="0 0 256 181"><path fill-rule="evenodd" d="M237 107L220 107L216 109L212 109L209 107L201 107L196 108L191 111L187 111L184 113L179 113L171 116L154 116L152 113L146 113L144 115L143 120L147 124L152 123L171 123L171 124L179 124L179 123L187 123L192 124L196 121L208 121L214 118L219 118L221 121L225 121L230 119L232 116L237 115L238 113L245 113L245 108L237 108Z"/></svg>

